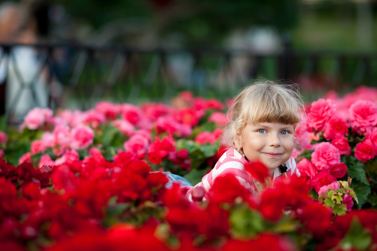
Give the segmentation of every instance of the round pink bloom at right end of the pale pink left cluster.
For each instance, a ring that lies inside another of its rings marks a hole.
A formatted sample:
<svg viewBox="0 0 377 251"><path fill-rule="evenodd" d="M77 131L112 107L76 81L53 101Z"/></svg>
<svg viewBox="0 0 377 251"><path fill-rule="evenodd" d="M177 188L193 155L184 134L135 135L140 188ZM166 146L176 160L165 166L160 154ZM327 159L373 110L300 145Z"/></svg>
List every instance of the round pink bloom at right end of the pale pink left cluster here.
<svg viewBox="0 0 377 251"><path fill-rule="evenodd" d="M70 133L70 147L72 149L85 149L93 144L94 131L89 126L77 126L71 130Z"/></svg>

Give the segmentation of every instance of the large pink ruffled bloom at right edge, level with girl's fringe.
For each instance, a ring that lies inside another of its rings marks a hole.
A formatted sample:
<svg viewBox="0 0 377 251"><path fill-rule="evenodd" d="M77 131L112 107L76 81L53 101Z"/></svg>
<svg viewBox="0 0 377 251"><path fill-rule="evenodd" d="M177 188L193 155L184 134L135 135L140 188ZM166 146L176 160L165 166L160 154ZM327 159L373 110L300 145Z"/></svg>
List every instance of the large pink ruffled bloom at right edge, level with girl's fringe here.
<svg viewBox="0 0 377 251"><path fill-rule="evenodd" d="M348 110L349 124L356 133L365 133L377 125L377 106L371 101L358 100Z"/></svg>

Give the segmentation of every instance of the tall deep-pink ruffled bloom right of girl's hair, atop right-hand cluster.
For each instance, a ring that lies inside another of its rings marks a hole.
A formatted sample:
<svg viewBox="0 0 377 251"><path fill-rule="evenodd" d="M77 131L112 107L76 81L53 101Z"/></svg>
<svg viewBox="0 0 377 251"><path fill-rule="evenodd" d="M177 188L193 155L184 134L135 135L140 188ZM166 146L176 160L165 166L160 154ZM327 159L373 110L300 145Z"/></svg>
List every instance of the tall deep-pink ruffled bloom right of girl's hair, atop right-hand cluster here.
<svg viewBox="0 0 377 251"><path fill-rule="evenodd" d="M317 131L323 131L326 122L335 113L336 105L331 99L320 98L318 101L311 103L310 113L308 116L312 127Z"/></svg>

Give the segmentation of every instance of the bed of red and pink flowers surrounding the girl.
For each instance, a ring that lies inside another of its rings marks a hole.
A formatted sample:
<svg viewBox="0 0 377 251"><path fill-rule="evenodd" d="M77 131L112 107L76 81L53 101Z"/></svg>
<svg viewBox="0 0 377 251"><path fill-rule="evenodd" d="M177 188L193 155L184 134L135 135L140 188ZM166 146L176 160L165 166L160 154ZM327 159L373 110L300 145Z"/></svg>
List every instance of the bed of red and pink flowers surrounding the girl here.
<svg viewBox="0 0 377 251"><path fill-rule="evenodd" d="M372 250L376 104L366 87L313 102L296 131L301 178L251 194L225 176L204 203L151 171L200 181L225 150L219 101L34 109L0 128L1 250ZM263 168L246 167L261 180Z"/></svg>

